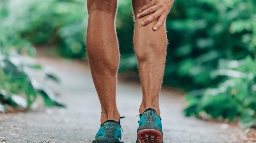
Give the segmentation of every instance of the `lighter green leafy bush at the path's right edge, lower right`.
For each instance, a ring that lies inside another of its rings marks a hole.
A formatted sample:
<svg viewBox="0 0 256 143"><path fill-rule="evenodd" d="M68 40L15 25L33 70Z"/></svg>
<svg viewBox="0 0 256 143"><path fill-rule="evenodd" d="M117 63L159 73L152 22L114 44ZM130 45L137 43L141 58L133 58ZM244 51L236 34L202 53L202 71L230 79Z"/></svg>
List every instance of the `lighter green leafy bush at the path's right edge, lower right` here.
<svg viewBox="0 0 256 143"><path fill-rule="evenodd" d="M242 60L220 59L218 69L211 71L211 78L226 80L217 88L206 88L186 95L186 116L205 112L212 118L222 117L233 121L240 116L243 128L256 125L256 60L247 56Z"/></svg>

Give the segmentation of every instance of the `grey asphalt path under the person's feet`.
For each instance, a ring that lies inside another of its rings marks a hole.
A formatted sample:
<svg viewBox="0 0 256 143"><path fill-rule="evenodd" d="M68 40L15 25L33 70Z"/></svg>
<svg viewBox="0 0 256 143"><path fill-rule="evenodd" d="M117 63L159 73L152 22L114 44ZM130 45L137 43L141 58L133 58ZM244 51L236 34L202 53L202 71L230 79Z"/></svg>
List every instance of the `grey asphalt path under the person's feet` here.
<svg viewBox="0 0 256 143"><path fill-rule="evenodd" d="M61 84L44 81L68 105L46 108L38 99L38 108L26 112L0 114L0 143L91 143L100 127L100 103L87 63L38 56L41 64L48 64L58 73ZM43 73L33 76L43 81ZM139 105L142 91L139 83L119 81L117 106L124 130L125 143L136 142ZM184 96L163 88L160 109L165 143L247 143L240 140L242 130L237 124L205 121L184 117ZM249 143L249 142L248 142Z"/></svg>

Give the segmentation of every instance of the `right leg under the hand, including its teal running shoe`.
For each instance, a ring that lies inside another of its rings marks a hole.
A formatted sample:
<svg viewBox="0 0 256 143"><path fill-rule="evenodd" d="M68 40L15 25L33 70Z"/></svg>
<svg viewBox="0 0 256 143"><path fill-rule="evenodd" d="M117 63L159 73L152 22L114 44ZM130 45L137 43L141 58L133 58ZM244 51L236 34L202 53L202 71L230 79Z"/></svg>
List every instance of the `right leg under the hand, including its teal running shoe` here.
<svg viewBox="0 0 256 143"><path fill-rule="evenodd" d="M154 31L152 27L157 19L142 26L141 22L148 14L137 18L139 9L151 0L132 0L135 16L134 51L138 59L139 77L142 86L142 103L139 108L140 119L137 129L137 143L163 143L160 119L159 93L162 84L165 56L166 31L164 24Z"/></svg>

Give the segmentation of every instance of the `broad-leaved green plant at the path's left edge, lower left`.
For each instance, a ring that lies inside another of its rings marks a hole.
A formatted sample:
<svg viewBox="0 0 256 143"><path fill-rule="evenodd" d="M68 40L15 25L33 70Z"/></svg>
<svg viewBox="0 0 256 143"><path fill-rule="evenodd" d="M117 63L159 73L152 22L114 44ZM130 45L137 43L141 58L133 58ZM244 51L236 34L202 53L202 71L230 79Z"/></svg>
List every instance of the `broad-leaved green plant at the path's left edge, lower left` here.
<svg viewBox="0 0 256 143"><path fill-rule="evenodd" d="M41 95L46 106L65 106L51 90L39 84L29 74L29 68L40 66L25 61L18 54L9 56L0 54L0 57L1 103L29 108L37 96ZM49 74L46 75L49 78ZM51 79L55 81L57 77L51 74ZM1 109L4 108L1 106Z"/></svg>

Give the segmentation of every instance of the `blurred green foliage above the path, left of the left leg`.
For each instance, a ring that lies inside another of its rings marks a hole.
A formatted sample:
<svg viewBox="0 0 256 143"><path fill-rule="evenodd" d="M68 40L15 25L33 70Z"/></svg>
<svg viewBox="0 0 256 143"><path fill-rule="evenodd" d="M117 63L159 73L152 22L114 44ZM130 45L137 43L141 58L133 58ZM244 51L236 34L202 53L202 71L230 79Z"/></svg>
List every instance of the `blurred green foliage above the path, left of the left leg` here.
<svg viewBox="0 0 256 143"><path fill-rule="evenodd" d="M51 45L69 58L86 56L88 14L82 0L5 1L2 22L33 45Z"/></svg>

